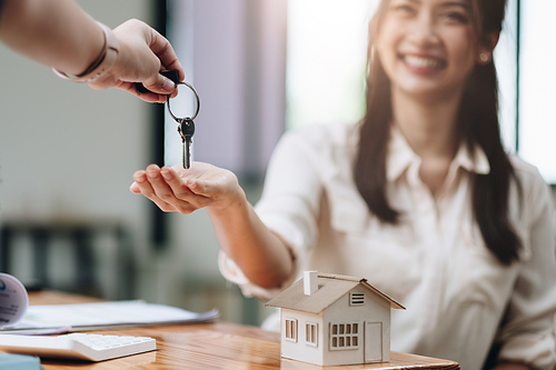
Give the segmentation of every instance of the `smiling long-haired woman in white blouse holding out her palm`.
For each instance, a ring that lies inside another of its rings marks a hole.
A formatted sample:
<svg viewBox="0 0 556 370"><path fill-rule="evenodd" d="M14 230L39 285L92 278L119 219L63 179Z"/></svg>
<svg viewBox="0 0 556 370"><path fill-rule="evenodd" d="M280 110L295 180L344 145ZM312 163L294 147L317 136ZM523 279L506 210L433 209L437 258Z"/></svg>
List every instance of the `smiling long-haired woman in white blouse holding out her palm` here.
<svg viewBox="0 0 556 370"><path fill-rule="evenodd" d="M369 28L367 114L285 134L255 211L236 177L151 164L131 190L206 208L220 269L269 299L301 270L367 278L401 302L391 349L478 370L553 369L548 189L503 149L493 50L504 0L384 0Z"/></svg>

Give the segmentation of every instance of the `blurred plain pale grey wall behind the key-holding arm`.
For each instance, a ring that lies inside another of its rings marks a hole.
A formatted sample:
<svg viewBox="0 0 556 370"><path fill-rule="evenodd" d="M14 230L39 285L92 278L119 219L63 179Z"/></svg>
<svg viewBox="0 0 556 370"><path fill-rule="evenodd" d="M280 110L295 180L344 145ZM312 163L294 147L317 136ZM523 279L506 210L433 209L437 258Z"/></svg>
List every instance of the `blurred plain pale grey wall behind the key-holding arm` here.
<svg viewBox="0 0 556 370"><path fill-rule="evenodd" d="M148 18L147 1L81 3L110 27ZM140 221L127 187L147 160L148 104L63 81L4 46L0 60L2 216Z"/></svg>

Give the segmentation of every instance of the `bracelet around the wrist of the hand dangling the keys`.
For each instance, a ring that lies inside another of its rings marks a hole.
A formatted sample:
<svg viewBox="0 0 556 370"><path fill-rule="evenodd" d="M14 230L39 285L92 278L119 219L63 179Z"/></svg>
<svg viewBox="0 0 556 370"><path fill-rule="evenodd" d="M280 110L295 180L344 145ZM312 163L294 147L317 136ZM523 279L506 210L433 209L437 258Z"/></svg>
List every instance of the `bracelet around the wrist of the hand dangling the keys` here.
<svg viewBox="0 0 556 370"><path fill-rule="evenodd" d="M100 79L106 74L106 72L110 70L110 68L116 62L116 59L118 58L120 46L118 43L118 40L116 39L116 34L113 34L110 28L100 22L97 23L102 28L102 33L105 34L105 46L102 47L102 51L97 57L97 59L95 59L81 74L69 76L52 68L56 74L64 80L89 83Z"/></svg>

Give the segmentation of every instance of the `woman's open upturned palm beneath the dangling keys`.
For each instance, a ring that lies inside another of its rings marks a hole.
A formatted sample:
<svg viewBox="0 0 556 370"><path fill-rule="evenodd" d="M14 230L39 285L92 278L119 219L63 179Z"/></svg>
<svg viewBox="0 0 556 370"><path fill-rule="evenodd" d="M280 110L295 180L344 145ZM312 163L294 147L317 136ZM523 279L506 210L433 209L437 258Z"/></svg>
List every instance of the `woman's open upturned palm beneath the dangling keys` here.
<svg viewBox="0 0 556 370"><path fill-rule="evenodd" d="M237 177L225 169L192 162L190 169L181 164L159 168L150 164L133 173L129 188L153 201L165 212L189 214L200 208L222 211L246 201Z"/></svg>

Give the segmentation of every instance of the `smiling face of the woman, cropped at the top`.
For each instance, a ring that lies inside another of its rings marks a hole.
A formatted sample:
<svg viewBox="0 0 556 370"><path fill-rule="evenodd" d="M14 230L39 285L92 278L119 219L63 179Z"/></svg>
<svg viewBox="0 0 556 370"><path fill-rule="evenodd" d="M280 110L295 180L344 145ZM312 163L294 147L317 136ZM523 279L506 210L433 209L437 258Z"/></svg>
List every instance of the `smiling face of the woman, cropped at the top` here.
<svg viewBox="0 0 556 370"><path fill-rule="evenodd" d="M469 0L390 0L376 51L395 92L461 92L479 60Z"/></svg>

